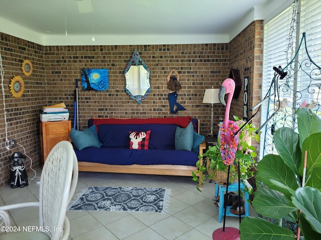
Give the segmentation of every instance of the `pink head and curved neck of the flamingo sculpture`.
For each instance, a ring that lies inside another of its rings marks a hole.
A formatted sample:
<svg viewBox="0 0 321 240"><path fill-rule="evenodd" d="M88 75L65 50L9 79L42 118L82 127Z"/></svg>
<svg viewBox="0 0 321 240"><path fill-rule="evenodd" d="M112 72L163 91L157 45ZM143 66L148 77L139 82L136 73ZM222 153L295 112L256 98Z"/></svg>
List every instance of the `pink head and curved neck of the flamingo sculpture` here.
<svg viewBox="0 0 321 240"><path fill-rule="evenodd" d="M226 78L219 91L219 100L223 105L226 105L225 108L225 117L224 117L224 129L229 128L229 118L230 118L230 108L231 102L235 89L235 81L232 78ZM227 97L227 103L225 103L224 96L229 94ZM226 136L226 141L230 143L232 141L233 135Z"/></svg>

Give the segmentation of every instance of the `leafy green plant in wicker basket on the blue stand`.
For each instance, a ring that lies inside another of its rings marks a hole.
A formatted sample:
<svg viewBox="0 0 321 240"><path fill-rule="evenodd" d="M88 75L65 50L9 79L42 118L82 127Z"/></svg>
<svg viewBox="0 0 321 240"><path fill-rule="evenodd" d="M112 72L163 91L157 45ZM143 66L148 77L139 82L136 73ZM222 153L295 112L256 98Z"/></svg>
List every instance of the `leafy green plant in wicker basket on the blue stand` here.
<svg viewBox="0 0 321 240"><path fill-rule="evenodd" d="M235 129L237 130L245 123L244 120L239 119L237 116L234 116L234 119L235 122L230 121L229 123L232 129L235 126ZM254 171L252 168L255 165L254 158L256 157L256 148L251 145L251 140L255 139L257 142L259 141L259 135L255 133L257 129L258 128L255 127L254 124L249 123L240 130L239 134L237 134L237 150L229 153L233 155L232 157L234 160L233 164L230 164L229 182L237 180L238 163L240 163L240 177L242 179L253 176ZM223 123L220 125L220 135L221 134L224 134ZM218 139L216 145L209 146L205 153L200 154L199 160L196 163L197 170L196 172L192 172L193 180L199 181L197 174L201 172L202 185L206 182L207 178L214 179L218 182L226 182L228 172L228 164L226 164L226 161L229 156L227 156L225 149L224 142L221 142L221 139ZM199 186L197 186L197 189L200 190Z"/></svg>

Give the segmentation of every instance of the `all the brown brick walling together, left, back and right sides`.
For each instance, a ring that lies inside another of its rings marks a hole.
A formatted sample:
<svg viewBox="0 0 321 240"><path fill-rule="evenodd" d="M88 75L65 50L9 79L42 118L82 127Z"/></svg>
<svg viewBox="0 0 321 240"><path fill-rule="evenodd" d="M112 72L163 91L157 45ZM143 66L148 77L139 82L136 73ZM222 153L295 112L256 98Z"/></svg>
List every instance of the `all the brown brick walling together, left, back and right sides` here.
<svg viewBox="0 0 321 240"><path fill-rule="evenodd" d="M209 131L211 122L210 107L202 103L206 88L212 85L219 88L228 77L230 67L243 69L246 65L244 54L249 58L251 80L260 79L260 70L254 68L257 59L253 50L258 47L255 42L259 42L256 39L259 26L260 23L256 21L230 43L219 44L41 46L0 33L0 48L6 71L4 88L8 137L16 138L17 142L26 148L27 155L34 162L34 168L41 166L41 106L65 102L70 111L69 119L73 120L75 79L80 78L81 68L108 68L109 90L83 91L79 87L80 129L86 127L87 120L91 117L147 118L190 115L201 120L201 133L204 134ZM151 91L141 104L125 92L123 71L134 49L137 49L150 69ZM34 72L29 77L23 76L21 70L21 63L25 58L30 59L34 66ZM187 109L176 114L170 112L168 101L167 75L172 68L176 68L181 76L182 89L178 92L178 102ZM9 92L10 79L17 74L25 80L25 93L21 98L13 98ZM259 88L260 85L253 88L253 91L258 91L257 95ZM231 115L240 115L242 112L239 103L241 99L242 93L237 103L233 102ZM253 97L253 100L255 99ZM16 149L5 149L3 97L0 98L0 105L0 186L3 186L9 183L11 161L8 156ZM215 132L218 131L217 123L219 117L224 116L224 111L223 105L215 105ZM20 146L19 150L23 152ZM31 160L26 159L25 164L27 169L30 169ZM33 175L30 173L29 177Z"/></svg>

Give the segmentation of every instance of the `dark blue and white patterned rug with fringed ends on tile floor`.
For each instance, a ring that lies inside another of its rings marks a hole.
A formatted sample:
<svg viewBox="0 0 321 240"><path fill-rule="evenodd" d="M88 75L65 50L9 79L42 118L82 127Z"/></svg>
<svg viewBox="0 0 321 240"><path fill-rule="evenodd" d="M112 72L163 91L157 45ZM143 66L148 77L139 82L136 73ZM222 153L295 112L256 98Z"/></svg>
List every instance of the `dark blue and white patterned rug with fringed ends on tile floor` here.
<svg viewBox="0 0 321 240"><path fill-rule="evenodd" d="M163 212L169 195L168 188L90 186L67 210Z"/></svg>

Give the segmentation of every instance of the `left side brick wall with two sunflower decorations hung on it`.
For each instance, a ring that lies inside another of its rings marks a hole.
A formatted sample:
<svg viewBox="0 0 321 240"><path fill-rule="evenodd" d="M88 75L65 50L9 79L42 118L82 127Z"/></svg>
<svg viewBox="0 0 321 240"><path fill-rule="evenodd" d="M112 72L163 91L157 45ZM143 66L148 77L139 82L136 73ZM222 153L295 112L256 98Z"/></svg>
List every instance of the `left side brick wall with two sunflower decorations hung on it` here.
<svg viewBox="0 0 321 240"><path fill-rule="evenodd" d="M39 109L47 102L46 76L44 66L44 47L11 35L0 33L0 50L5 70L4 91L6 115L8 122L8 138L15 138L24 148L5 148L6 125L4 113L4 96L0 93L0 186L9 184L8 156L15 151L21 151L33 160L33 168L40 167L40 135ZM29 59L33 63L33 73L27 77L22 72L22 62ZM25 91L22 97L14 98L10 93L9 84L15 75L22 76ZM1 87L2 88L2 87ZM30 169L31 160L27 158L25 165ZM33 177L34 173L29 173Z"/></svg>

